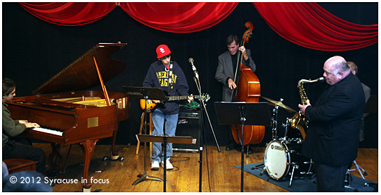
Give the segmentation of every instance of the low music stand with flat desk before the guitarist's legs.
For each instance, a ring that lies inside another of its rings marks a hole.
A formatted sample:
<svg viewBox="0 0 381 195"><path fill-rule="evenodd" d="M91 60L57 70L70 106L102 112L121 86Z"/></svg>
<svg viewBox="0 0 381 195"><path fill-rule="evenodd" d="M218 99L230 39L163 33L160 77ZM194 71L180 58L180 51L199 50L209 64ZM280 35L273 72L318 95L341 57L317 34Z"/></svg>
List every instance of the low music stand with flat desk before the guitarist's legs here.
<svg viewBox="0 0 381 195"><path fill-rule="evenodd" d="M196 139L193 139L192 137L167 137L167 136L157 136L157 135L148 135L148 134L137 134L137 140L146 142L161 142L164 143L164 185L163 185L163 191L166 192L166 144L167 143L192 143L196 144ZM137 185L139 182L144 180L143 176L138 175L139 178L134 182L133 185ZM142 179L143 178L143 179Z"/></svg>

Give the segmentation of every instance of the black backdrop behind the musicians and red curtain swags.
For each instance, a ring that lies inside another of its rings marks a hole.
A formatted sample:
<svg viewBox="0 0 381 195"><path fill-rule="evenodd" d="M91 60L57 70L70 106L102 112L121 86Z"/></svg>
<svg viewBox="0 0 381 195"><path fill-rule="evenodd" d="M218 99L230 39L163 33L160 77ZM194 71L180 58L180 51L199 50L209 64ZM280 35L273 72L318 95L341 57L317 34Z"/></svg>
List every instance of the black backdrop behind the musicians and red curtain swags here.
<svg viewBox="0 0 381 195"><path fill-rule="evenodd" d="M337 17L356 24L378 24L378 3L319 3ZM26 12L17 3L2 3L3 9L3 77L15 80L17 96L31 95L50 77L65 68L98 42L127 42L113 59L127 63L120 75L106 81L108 91L124 92L121 86L141 86L150 63L157 60L157 45L171 49L173 61L184 70L190 93L196 92L189 57L199 71L204 93L211 96L207 104L219 146L226 146L226 127L218 125L213 102L221 101L221 84L215 80L217 56L226 51L229 34L242 38L246 22L254 25L254 35L245 46L257 65L256 75L261 81L261 95L280 100L297 110L300 96L297 81L322 77L322 65L331 56L340 55L359 66L359 79L378 94L378 44L346 52L322 52L295 45L272 31L252 3L239 3L233 13L210 29L195 33L168 33L145 26L116 7L101 20L84 26L58 26L42 21ZM112 67L110 67L112 68ZM313 104L325 84L304 84ZM101 90L100 87L89 90ZM263 100L261 100L263 101ZM131 118L120 123L117 144L136 144L141 109L137 100L131 101ZM278 135L283 134L281 123L293 114L279 111ZM207 121L207 120L205 120ZM205 123L208 145L215 145L210 126ZM259 146L271 139L267 127ZM109 143L108 139L100 143ZM366 138L361 147L378 147L377 114L366 118Z"/></svg>

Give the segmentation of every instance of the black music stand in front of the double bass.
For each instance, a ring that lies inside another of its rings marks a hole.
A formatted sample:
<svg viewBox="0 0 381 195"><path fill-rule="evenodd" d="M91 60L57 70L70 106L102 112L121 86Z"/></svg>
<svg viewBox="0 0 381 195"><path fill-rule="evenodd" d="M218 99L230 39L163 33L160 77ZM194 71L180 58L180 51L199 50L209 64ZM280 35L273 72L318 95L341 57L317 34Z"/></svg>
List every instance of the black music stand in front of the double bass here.
<svg viewBox="0 0 381 195"><path fill-rule="evenodd" d="M219 125L242 125L241 138L241 192L243 192L244 125L271 126L267 102L215 102Z"/></svg>

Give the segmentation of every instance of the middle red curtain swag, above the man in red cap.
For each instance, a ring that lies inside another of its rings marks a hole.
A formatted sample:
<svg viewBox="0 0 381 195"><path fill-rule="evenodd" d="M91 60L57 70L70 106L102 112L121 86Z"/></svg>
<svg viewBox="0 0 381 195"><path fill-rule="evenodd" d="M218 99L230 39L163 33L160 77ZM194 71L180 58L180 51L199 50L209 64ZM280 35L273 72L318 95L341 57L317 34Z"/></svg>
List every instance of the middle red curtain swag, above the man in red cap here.
<svg viewBox="0 0 381 195"><path fill-rule="evenodd" d="M135 20L160 31L192 33L224 20L238 3L120 3Z"/></svg>

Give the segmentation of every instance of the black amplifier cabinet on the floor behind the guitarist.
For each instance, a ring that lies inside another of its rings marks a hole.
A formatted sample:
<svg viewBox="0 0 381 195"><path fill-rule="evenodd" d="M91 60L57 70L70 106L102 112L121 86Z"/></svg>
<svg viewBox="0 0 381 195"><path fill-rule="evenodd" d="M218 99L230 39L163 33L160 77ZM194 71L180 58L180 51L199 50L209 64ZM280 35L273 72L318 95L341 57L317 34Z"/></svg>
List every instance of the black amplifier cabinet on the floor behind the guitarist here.
<svg viewBox="0 0 381 195"><path fill-rule="evenodd" d="M180 107L176 136L189 136L196 139L196 144L173 143L173 152L199 153L201 135L200 109L187 110Z"/></svg>

